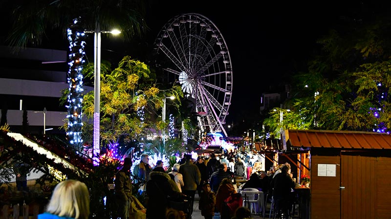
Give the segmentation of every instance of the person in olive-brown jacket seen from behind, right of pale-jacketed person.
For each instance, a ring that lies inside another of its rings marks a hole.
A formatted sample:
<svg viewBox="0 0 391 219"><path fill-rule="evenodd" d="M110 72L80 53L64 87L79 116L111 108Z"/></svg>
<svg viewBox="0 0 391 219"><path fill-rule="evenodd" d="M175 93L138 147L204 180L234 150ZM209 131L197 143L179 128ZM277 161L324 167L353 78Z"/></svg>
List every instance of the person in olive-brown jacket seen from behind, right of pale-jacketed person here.
<svg viewBox="0 0 391 219"><path fill-rule="evenodd" d="M186 162L180 165L179 173L183 176L184 186L182 187L182 193L189 197L190 199L190 212L189 218L191 218L193 214L193 203L195 191L197 190L197 186L201 181L201 173L198 170L198 167L192 161L192 155L187 154Z"/></svg>

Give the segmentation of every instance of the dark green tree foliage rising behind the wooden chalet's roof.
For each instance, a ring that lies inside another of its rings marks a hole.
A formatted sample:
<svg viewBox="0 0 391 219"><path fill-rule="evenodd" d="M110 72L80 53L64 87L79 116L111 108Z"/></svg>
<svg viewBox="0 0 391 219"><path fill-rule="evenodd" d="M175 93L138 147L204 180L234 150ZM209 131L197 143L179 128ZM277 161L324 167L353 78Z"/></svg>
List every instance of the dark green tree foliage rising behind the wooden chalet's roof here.
<svg viewBox="0 0 391 219"><path fill-rule="evenodd" d="M270 111L264 124L277 134L283 129L389 131L391 109L391 44L388 17L350 21L318 40L322 50L294 76L291 111L280 124ZM288 116L287 116L288 117ZM289 124L287 124L289 123ZM298 125L298 124L303 125Z"/></svg>

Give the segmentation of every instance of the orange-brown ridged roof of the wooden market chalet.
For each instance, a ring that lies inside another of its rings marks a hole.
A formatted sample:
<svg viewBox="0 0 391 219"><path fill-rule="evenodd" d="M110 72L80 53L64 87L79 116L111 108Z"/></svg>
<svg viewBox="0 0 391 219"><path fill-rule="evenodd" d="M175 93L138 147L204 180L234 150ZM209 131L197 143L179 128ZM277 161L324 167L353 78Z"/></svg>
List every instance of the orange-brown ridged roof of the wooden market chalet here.
<svg viewBox="0 0 391 219"><path fill-rule="evenodd" d="M391 149L391 135L376 132L285 130L290 147Z"/></svg>

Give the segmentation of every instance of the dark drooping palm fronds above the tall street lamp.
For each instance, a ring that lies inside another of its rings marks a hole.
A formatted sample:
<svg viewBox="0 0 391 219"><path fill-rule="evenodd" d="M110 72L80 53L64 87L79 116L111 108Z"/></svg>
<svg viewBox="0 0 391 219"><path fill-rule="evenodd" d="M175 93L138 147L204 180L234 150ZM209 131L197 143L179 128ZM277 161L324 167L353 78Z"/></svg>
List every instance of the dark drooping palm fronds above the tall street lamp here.
<svg viewBox="0 0 391 219"><path fill-rule="evenodd" d="M130 40L148 27L144 20L144 0L28 0L13 4L12 30L8 43L18 50L42 43L48 30L62 29L81 18L85 30L121 30L121 37Z"/></svg>

